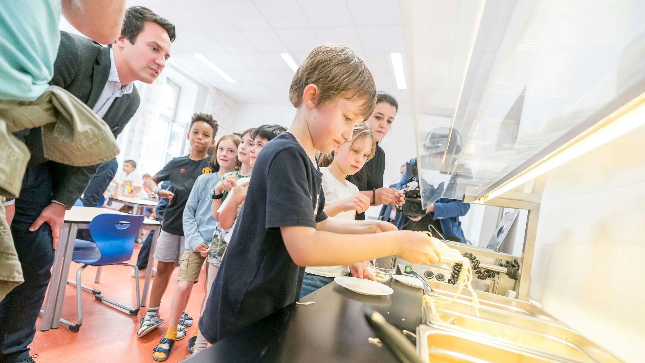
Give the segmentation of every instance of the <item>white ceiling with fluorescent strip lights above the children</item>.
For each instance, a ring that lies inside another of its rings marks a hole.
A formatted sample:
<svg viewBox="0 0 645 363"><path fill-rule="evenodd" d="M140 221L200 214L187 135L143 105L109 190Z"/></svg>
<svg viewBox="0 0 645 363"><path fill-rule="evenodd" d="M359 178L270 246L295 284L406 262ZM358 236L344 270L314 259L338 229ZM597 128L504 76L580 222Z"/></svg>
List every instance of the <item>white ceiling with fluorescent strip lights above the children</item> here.
<svg viewBox="0 0 645 363"><path fill-rule="evenodd" d="M428 41L415 57L428 65L420 79L429 84L421 87L428 92L419 94L419 101L454 108L477 0L422 3L428 21L415 36ZM239 103L290 105L293 71L280 54L291 54L299 65L315 45L344 43L367 63L379 90L392 92L400 110L410 112L410 92L397 89L390 61L390 53L403 54L410 85L398 0L128 0L132 5L147 6L175 23L170 65ZM206 67L194 57L197 52L236 83Z"/></svg>

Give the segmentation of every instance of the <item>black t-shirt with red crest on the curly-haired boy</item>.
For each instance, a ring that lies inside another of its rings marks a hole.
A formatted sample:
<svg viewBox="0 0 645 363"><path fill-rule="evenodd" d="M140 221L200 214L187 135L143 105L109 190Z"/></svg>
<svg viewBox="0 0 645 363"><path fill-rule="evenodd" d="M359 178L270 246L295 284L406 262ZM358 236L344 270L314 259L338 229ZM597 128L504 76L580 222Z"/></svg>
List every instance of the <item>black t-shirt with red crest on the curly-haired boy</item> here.
<svg viewBox="0 0 645 363"><path fill-rule="evenodd" d="M169 190L175 194L164 211L163 225L161 225L163 231L175 236L184 235L184 207L195 180L201 174L217 172L215 169L217 167L210 163L210 156L202 160L190 160L188 156L182 156L168 161L166 166L155 174L158 182L170 181Z"/></svg>

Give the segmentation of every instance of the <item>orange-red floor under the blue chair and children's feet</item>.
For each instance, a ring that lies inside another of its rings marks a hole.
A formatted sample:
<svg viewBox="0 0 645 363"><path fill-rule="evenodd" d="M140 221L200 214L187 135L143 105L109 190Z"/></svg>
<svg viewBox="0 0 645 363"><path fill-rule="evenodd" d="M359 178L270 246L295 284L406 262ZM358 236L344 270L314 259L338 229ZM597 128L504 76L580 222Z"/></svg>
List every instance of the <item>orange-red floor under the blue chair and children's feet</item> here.
<svg viewBox="0 0 645 363"><path fill-rule="evenodd" d="M130 262L136 262L139 254L139 246L135 244L135 251ZM70 279L75 279L79 264L72 262L70 267ZM83 284L100 290L101 295L125 303L126 306L134 305L134 278L132 268L126 266L103 267L101 283L94 284L95 267L86 267L83 271ZM161 318L170 313L170 302L177 284L177 271L168 284L168 289L161 302ZM188 335L179 340L166 362L180 362L188 353L188 338L197 327L199 307L204 297L204 278L206 273L202 269L199 282L195 284L186 312L194 316L195 323L188 327ZM144 279L139 280L140 288L143 291ZM152 287L152 284L151 284ZM149 296L149 295L148 295ZM67 285L65 302L63 307L63 318L76 321L76 288L74 285ZM118 311L102 302L94 299L92 293L83 291L83 326L78 333L74 333L67 326L61 324L58 329L40 331L41 318L38 319L38 328L34 342L30 345L31 354L39 355L35 358L37 363L41 362L88 362L88 363L115 363L115 362L154 362L152 349L157 345L159 339L166 333L168 324L164 322L158 329L148 333L143 338L136 335L139 329L139 320L145 315L146 307L142 307L139 316L135 317Z"/></svg>

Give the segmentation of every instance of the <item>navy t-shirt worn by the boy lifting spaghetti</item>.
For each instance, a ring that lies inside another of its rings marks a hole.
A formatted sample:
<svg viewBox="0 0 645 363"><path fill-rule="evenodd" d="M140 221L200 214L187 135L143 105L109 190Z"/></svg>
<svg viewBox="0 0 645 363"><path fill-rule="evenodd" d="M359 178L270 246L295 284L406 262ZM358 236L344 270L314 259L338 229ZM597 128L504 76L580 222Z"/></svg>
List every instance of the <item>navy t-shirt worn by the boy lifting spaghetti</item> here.
<svg viewBox="0 0 645 363"><path fill-rule="evenodd" d="M286 251L280 227L315 228L327 218L322 176L292 134L264 146L199 321L206 340L215 343L298 298L304 267Z"/></svg>

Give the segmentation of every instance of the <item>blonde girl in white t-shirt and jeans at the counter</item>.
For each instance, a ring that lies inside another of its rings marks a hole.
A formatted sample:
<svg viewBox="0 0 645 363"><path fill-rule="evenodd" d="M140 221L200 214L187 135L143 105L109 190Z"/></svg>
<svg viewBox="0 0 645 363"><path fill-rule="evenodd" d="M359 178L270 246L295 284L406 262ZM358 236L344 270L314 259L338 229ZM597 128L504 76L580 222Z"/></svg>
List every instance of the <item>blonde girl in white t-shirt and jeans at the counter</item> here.
<svg viewBox="0 0 645 363"><path fill-rule="evenodd" d="M345 141L331 154L319 156L320 171L323 173L324 212L329 217L354 220L356 213L364 213L370 207L370 198L361 194L358 187L345 180L348 175L361 173L361 169L373 158L376 152L374 132L367 123L354 127L352 141ZM389 205L388 205L389 206ZM362 263L342 266L307 267L304 270L303 288L300 297L309 295L333 281L333 278L346 276L352 272L354 277L369 278L374 276L364 269Z"/></svg>

